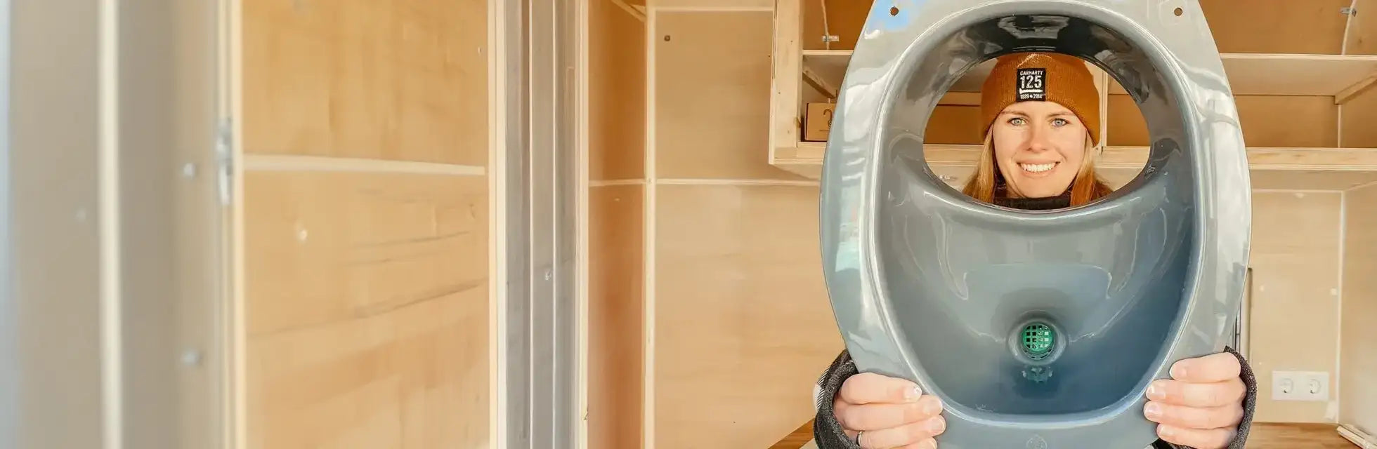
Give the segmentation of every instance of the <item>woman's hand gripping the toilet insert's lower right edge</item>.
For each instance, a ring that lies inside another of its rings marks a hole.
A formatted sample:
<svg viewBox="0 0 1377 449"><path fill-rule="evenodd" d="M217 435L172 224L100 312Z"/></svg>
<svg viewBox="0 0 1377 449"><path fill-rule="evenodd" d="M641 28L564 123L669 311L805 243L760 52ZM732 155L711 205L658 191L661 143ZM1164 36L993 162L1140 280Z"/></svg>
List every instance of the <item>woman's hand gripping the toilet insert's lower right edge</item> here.
<svg viewBox="0 0 1377 449"><path fill-rule="evenodd" d="M1242 367L1230 353L1177 361L1172 379L1154 380L1147 387L1147 419L1158 423L1157 435L1166 442L1224 449L1243 422Z"/></svg>

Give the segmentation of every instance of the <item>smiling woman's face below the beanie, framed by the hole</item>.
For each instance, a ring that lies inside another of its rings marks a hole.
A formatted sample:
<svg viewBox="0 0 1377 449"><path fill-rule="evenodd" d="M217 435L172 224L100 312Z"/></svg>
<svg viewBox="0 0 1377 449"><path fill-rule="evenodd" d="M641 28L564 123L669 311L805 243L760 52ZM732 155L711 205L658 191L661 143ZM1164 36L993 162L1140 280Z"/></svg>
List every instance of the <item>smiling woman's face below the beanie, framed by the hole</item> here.
<svg viewBox="0 0 1377 449"><path fill-rule="evenodd" d="M994 162L1013 196L1062 195L1085 158L1085 125L1058 103L1009 104L994 119L990 132L994 135Z"/></svg>

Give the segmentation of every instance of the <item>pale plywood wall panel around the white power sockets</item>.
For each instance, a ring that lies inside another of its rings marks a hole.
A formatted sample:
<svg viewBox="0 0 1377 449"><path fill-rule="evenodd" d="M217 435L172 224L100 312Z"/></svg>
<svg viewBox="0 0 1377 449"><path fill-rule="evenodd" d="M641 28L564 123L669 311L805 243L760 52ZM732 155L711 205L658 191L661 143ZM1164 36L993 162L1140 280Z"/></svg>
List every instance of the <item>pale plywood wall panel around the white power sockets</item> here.
<svg viewBox="0 0 1377 449"><path fill-rule="evenodd" d="M1257 373L1257 422L1329 420L1326 402L1272 401L1271 372L1334 372L1340 210L1338 192L1253 194L1249 364Z"/></svg>

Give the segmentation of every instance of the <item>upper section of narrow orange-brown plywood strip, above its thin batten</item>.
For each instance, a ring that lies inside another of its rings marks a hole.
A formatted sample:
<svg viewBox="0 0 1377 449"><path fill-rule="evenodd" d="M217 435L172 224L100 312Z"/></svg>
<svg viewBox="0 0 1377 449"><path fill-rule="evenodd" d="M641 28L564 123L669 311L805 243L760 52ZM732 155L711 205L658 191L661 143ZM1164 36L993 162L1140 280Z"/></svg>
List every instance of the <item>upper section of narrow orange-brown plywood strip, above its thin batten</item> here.
<svg viewBox="0 0 1377 449"><path fill-rule="evenodd" d="M646 23L613 0L588 11L588 177L646 177Z"/></svg>

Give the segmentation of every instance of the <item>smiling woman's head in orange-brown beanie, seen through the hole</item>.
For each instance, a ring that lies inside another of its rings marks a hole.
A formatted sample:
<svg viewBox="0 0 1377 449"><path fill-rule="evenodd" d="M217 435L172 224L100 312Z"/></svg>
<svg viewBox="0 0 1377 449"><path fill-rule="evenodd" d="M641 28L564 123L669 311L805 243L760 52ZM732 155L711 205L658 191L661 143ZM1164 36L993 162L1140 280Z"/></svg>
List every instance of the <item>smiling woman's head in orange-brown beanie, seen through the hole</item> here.
<svg viewBox="0 0 1377 449"><path fill-rule="evenodd" d="M1001 206L1078 206L1108 195L1095 174L1095 77L1075 56L1000 58L980 91L985 148L963 192Z"/></svg>

